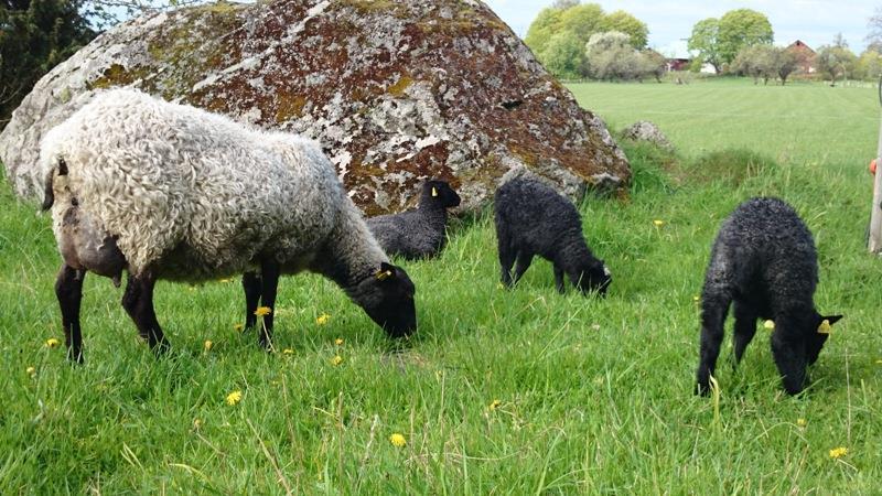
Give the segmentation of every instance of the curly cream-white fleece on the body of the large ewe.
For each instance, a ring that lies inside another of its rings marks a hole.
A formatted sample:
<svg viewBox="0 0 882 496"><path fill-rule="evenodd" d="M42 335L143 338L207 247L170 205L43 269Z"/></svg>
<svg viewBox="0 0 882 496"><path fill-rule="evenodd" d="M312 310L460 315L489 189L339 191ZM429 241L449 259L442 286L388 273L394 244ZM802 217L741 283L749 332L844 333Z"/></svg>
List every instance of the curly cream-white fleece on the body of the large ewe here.
<svg viewBox="0 0 882 496"><path fill-rule="evenodd" d="M68 175L53 181L61 160ZM137 90L100 93L53 128L40 168L56 239L76 200L135 276L198 281L255 270L259 256L297 272L326 252L334 261L316 263L345 288L388 261L318 143Z"/></svg>

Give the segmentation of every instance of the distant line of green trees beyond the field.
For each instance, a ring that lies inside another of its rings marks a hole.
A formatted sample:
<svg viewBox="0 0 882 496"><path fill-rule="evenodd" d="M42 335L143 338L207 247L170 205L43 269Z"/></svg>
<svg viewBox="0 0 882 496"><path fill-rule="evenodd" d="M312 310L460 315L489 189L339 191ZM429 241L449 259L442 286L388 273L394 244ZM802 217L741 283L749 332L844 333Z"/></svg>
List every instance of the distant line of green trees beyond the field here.
<svg viewBox="0 0 882 496"><path fill-rule="evenodd" d="M710 66L717 74L749 76L754 82L786 84L795 73L836 84L848 77L875 79L882 74L882 7L869 20L871 41L860 56L841 35L817 47L773 45L765 14L735 9L698 21L687 39L695 54L689 69ZM595 3L557 0L530 24L525 42L553 75L563 79L660 79L667 58L647 48L647 25L624 11L605 13ZM806 69L810 67L808 73Z"/></svg>

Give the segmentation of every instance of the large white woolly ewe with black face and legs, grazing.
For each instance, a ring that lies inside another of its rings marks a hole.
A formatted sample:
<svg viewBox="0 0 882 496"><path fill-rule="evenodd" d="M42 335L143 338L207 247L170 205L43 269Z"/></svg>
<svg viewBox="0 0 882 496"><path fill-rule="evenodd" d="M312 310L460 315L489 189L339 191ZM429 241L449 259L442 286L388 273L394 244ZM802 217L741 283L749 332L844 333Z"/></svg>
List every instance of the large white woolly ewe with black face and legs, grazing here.
<svg viewBox="0 0 882 496"><path fill-rule="evenodd" d="M255 270L263 306L275 305L280 273L310 270L390 335L416 328L413 283L389 265L314 141L114 89L46 133L39 166L64 259L55 289L72 359L82 359L86 271L117 283L128 271L122 305L157 351L168 347L153 312L158 279ZM271 314L265 323L269 346Z"/></svg>

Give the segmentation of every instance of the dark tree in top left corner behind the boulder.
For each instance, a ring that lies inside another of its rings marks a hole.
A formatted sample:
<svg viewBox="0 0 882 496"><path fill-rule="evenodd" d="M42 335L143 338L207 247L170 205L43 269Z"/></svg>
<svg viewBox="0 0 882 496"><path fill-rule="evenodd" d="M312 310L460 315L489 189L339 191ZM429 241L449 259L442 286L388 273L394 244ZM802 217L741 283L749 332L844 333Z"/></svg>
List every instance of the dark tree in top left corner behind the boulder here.
<svg viewBox="0 0 882 496"><path fill-rule="evenodd" d="M40 77L95 37L78 0L0 3L0 129Z"/></svg>

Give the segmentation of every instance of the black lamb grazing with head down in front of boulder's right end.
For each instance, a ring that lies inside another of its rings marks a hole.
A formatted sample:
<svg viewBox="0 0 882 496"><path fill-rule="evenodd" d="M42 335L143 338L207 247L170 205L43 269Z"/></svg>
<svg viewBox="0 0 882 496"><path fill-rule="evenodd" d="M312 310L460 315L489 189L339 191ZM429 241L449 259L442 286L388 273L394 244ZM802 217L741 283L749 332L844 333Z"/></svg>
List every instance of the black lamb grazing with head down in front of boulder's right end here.
<svg viewBox="0 0 882 496"><path fill-rule="evenodd" d="M555 265L559 292L564 290L566 273L582 293L606 293L612 276L588 248L579 212L569 200L536 179L518 176L496 190L494 214L506 287L516 283L538 255Z"/></svg>

